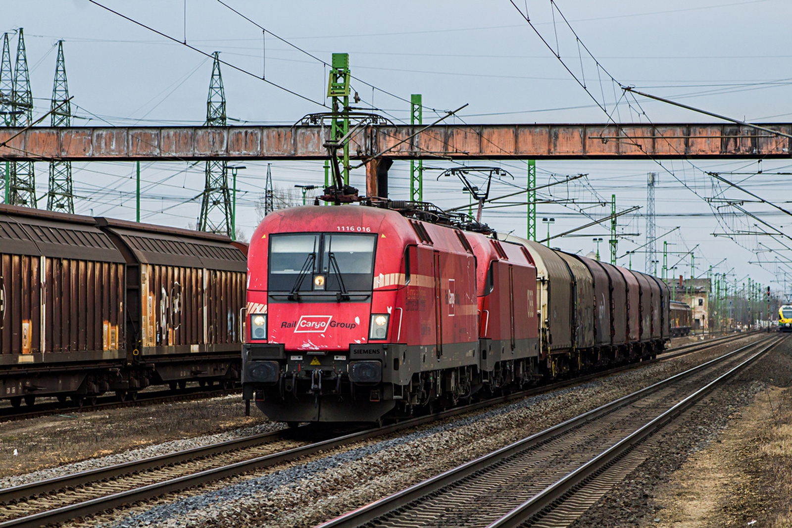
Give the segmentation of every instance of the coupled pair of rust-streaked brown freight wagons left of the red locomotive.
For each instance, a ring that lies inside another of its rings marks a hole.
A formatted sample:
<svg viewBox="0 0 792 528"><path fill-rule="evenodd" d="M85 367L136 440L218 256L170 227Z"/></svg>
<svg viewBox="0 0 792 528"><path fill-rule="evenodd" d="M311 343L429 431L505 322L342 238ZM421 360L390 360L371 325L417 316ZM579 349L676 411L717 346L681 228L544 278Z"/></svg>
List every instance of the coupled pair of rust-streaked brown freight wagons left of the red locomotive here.
<svg viewBox="0 0 792 528"><path fill-rule="evenodd" d="M0 399L239 378L246 245L0 205Z"/></svg>

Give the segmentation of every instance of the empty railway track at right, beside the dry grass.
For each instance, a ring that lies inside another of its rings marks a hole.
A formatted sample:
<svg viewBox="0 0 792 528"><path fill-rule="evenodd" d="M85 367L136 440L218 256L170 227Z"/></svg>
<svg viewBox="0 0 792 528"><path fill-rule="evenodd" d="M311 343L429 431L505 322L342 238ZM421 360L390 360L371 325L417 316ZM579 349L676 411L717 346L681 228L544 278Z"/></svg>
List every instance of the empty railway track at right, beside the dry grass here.
<svg viewBox="0 0 792 528"><path fill-rule="evenodd" d="M783 339L767 336L320 526L567 526L649 456L649 437Z"/></svg>

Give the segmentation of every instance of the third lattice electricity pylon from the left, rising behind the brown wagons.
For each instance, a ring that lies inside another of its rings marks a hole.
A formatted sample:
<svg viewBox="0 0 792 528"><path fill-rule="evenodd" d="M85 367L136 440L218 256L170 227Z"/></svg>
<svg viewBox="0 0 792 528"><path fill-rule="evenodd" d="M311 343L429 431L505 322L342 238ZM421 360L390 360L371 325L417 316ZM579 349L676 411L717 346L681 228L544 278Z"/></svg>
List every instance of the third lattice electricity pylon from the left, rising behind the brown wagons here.
<svg viewBox="0 0 792 528"><path fill-rule="evenodd" d="M69 86L66 82L66 60L63 59L63 40L58 41L58 61L55 63L55 83L52 86L50 111L52 112L51 126L71 126L71 103L69 101ZM50 161L47 210L74 214L71 161Z"/></svg>

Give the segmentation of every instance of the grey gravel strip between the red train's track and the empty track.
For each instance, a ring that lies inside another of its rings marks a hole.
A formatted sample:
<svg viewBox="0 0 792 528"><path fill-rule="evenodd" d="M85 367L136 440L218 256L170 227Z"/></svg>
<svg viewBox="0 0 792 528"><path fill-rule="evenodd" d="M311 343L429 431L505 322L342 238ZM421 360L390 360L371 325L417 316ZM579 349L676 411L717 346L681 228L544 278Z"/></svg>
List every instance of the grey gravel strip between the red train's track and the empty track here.
<svg viewBox="0 0 792 528"><path fill-rule="evenodd" d="M744 344L747 341L743 341ZM735 348L731 345L729 349ZM323 456L92 519L105 526L310 526L721 354L725 347L345 446Z"/></svg>

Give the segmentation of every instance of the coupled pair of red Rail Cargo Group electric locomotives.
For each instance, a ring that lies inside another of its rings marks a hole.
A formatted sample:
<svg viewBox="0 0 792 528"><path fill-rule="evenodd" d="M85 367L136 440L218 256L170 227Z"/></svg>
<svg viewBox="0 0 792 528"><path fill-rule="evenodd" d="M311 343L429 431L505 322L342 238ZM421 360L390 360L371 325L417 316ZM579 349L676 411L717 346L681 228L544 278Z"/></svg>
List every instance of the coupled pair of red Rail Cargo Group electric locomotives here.
<svg viewBox="0 0 792 528"><path fill-rule="evenodd" d="M272 420L375 421L536 369L518 245L377 207L293 207L248 253L246 400Z"/></svg>

